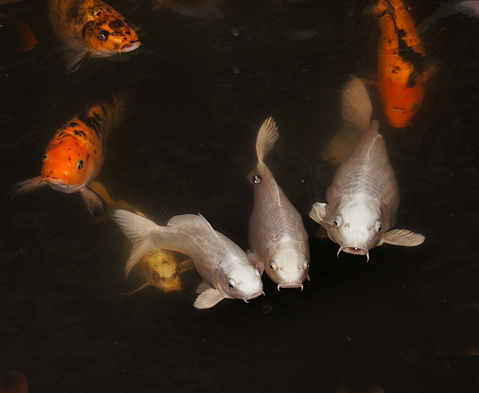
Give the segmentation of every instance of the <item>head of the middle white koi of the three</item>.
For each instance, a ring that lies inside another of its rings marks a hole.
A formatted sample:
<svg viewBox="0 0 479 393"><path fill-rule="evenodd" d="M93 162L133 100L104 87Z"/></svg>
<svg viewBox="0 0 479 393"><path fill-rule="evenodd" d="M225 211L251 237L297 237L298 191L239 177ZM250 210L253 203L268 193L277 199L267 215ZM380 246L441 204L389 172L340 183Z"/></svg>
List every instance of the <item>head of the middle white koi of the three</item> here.
<svg viewBox="0 0 479 393"><path fill-rule="evenodd" d="M282 241L273 247L265 268L280 288L302 288L309 271L309 250L304 244Z"/></svg>

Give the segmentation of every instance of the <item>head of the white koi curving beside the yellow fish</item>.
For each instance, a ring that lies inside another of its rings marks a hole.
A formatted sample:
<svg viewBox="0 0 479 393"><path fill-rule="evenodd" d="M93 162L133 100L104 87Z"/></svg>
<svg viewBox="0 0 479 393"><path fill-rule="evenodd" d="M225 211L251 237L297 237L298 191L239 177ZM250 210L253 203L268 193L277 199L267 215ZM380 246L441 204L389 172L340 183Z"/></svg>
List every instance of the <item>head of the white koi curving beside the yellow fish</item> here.
<svg viewBox="0 0 479 393"><path fill-rule="evenodd" d="M247 302L263 292L263 283L258 269L245 263L232 263L233 268L220 268L220 287L228 297Z"/></svg>

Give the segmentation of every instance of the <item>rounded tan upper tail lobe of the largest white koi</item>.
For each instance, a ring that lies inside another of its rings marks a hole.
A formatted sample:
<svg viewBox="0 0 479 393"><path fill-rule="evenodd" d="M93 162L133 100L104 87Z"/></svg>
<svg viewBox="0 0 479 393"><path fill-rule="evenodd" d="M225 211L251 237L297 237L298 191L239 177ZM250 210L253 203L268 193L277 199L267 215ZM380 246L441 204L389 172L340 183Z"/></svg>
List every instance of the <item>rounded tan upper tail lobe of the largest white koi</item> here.
<svg viewBox="0 0 479 393"><path fill-rule="evenodd" d="M343 88L342 115L348 127L367 131L370 127L373 108L369 94L361 79L354 76Z"/></svg>

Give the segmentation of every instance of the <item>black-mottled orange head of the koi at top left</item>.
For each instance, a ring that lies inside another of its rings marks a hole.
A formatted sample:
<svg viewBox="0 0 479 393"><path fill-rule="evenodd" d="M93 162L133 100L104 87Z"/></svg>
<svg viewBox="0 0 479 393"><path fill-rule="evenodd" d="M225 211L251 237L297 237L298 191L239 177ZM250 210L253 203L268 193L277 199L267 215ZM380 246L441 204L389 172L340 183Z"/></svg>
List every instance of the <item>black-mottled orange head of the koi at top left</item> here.
<svg viewBox="0 0 479 393"><path fill-rule="evenodd" d="M81 34L94 54L100 56L131 52L141 45L133 23L105 8L95 11L95 19L83 26Z"/></svg>

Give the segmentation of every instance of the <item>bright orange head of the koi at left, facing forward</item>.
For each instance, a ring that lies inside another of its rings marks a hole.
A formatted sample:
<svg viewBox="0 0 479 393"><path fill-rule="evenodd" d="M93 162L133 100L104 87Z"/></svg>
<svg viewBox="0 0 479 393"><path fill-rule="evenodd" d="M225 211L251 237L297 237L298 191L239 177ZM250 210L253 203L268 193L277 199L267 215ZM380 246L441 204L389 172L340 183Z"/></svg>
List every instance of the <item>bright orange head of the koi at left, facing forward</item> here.
<svg viewBox="0 0 479 393"><path fill-rule="evenodd" d="M88 150L67 135L43 155L41 176L47 183L81 186L86 184L94 167L94 160Z"/></svg>

